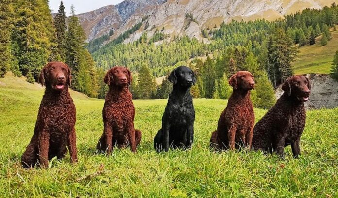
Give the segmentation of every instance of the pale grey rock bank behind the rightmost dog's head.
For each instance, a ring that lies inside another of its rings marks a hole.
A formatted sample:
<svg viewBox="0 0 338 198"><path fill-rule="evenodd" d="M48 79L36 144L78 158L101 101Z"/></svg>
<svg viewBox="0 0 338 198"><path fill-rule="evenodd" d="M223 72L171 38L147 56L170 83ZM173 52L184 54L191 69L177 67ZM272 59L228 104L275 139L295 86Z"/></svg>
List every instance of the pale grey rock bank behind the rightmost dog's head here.
<svg viewBox="0 0 338 198"><path fill-rule="evenodd" d="M327 74L307 74L311 82L311 95L304 103L306 109L335 108L338 107L338 82ZM283 90L278 87L275 91L278 99Z"/></svg>

